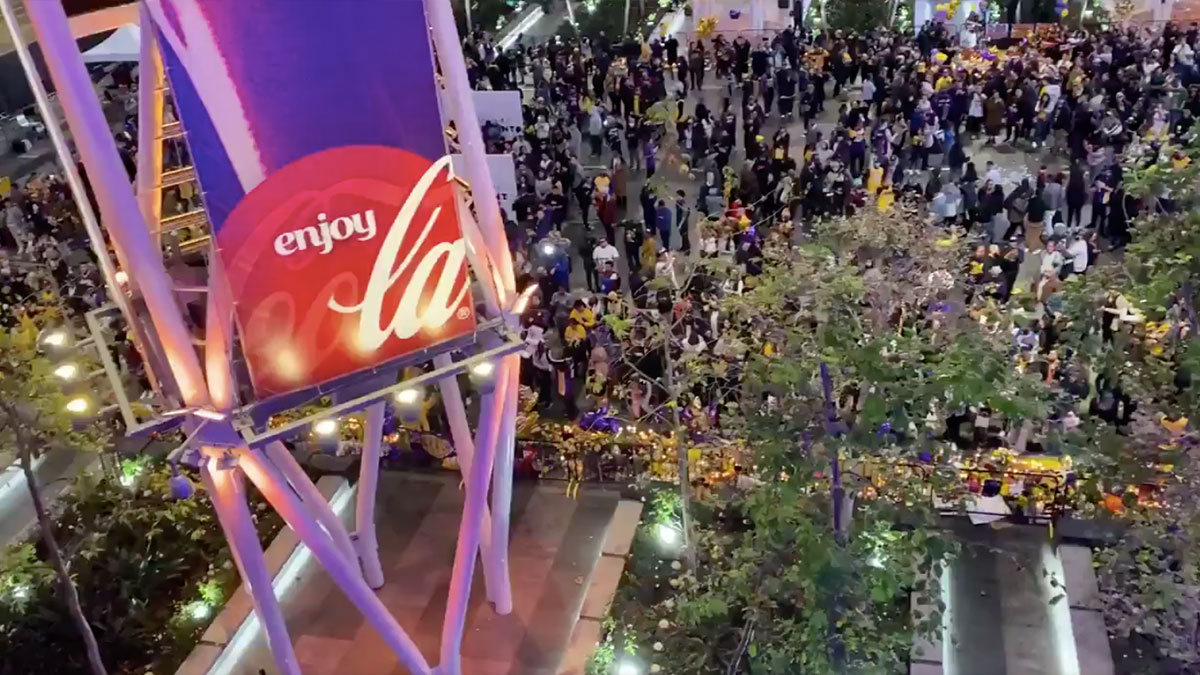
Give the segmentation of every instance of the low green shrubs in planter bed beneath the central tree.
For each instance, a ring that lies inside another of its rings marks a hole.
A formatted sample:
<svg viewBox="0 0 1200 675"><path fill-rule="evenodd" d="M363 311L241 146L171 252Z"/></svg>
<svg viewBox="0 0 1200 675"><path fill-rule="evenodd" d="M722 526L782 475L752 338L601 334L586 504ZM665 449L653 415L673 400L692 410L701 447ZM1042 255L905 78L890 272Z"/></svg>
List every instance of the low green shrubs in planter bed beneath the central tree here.
<svg viewBox="0 0 1200 675"><path fill-rule="evenodd" d="M940 629L941 609L914 620L908 593L938 596L950 544L894 530L876 506L839 543L829 509L827 483L811 474L767 483L697 527L695 572L662 557L647 519L614 644L676 673L724 674L739 652L754 673L833 673L836 659L852 673L894 671L914 633Z"/></svg>

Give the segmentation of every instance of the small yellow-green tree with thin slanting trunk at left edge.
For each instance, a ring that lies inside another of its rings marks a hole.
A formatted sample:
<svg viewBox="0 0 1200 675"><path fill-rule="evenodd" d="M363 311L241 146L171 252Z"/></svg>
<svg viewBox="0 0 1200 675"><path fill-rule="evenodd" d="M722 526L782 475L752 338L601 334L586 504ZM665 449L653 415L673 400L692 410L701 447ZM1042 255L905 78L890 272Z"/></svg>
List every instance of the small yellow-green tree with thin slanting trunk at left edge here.
<svg viewBox="0 0 1200 675"><path fill-rule="evenodd" d="M54 537L54 522L34 472L34 460L48 449L98 450L107 438L104 431L95 425L84 431L76 430L74 419L67 411L68 398L60 387L61 380L54 374L56 366L41 351L40 335L44 341L46 334L40 329L58 316L54 310L41 312L37 321L20 316L16 325L0 330L0 443L16 448L37 514L46 557L58 579L59 593L83 639L92 674L103 675L106 669L96 637L79 604L79 595ZM64 329L52 325L50 330ZM65 340L66 334L61 335ZM53 341L58 342L58 339Z"/></svg>

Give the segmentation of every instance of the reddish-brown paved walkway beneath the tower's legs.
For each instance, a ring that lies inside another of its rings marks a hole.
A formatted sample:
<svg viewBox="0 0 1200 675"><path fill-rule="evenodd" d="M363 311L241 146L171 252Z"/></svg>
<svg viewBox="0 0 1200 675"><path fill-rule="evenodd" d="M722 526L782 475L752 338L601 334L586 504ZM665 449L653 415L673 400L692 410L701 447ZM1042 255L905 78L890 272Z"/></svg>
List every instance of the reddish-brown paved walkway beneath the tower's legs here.
<svg viewBox="0 0 1200 675"><path fill-rule="evenodd" d="M470 675L556 675L617 506L614 492L569 500L556 484L518 483L512 497L514 611L486 602L476 565L462 647ZM431 665L462 513L456 477L384 472L376 514L386 585L378 591ZM402 675L395 655L316 563L281 605L306 675ZM256 635L233 673L275 673Z"/></svg>

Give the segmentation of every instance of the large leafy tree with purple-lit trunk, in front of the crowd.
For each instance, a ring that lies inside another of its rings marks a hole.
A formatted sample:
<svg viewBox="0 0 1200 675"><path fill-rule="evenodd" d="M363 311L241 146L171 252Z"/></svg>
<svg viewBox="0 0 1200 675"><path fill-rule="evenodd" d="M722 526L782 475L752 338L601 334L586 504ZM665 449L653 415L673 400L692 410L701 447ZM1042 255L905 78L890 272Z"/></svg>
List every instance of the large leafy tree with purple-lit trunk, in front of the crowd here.
<svg viewBox="0 0 1200 675"><path fill-rule="evenodd" d="M745 446L746 476L696 506L712 513L694 566L635 554L618 651L701 674L887 673L941 629L955 543L931 496L965 497L971 461L944 420L986 406L1020 424L1046 399L1007 331L980 328L1004 310L968 311L960 256L901 209L818 223L800 246L770 238L754 276L702 263L703 287L744 291L714 300L720 344L686 362L683 390L730 392L719 429ZM936 609L908 616L908 592Z"/></svg>

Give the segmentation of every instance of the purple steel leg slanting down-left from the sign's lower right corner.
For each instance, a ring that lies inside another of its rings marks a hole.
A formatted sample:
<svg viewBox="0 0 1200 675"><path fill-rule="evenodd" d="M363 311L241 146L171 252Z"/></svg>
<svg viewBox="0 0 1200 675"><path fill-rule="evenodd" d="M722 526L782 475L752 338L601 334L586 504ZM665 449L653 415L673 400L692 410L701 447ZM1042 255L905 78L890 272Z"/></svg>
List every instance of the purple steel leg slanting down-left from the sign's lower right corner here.
<svg viewBox="0 0 1200 675"><path fill-rule="evenodd" d="M462 673L462 633L467 626L467 605L470 599L470 578L475 572L475 554L479 550L480 530L484 509L487 507L488 467L499 437L500 408L504 407L504 394L509 388L509 362L505 359L497 369L496 389L484 396L480 404L479 434L475 442L475 458L467 477L467 494L462 509L462 521L458 525L458 543L454 554L454 569L450 573L450 595L446 598L446 614L442 623L442 651L438 664L439 675L460 675ZM494 527L494 525L493 525ZM492 542L504 545L506 542Z"/></svg>

